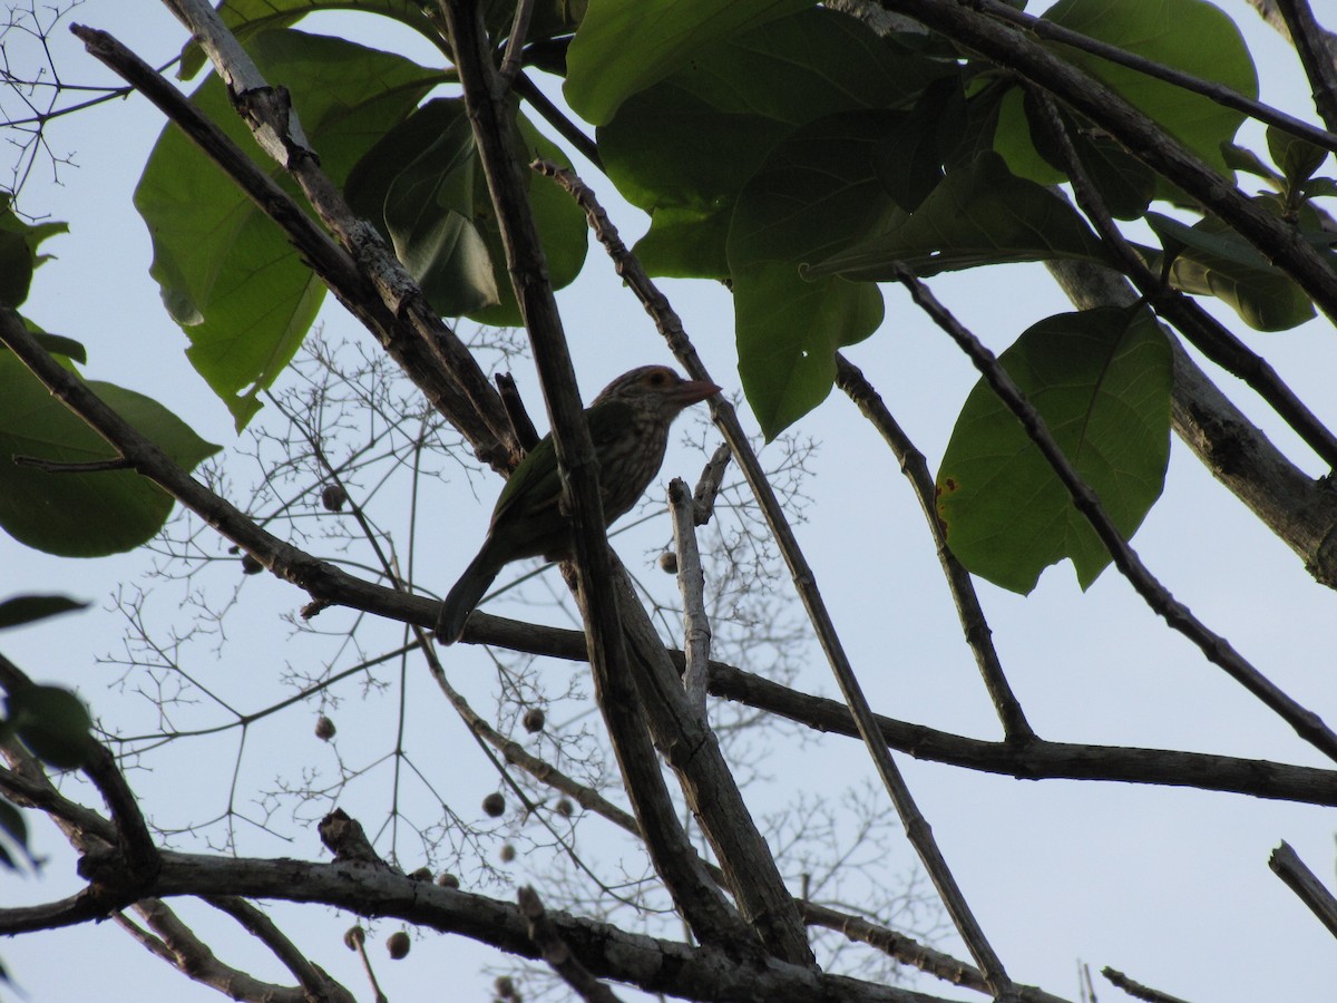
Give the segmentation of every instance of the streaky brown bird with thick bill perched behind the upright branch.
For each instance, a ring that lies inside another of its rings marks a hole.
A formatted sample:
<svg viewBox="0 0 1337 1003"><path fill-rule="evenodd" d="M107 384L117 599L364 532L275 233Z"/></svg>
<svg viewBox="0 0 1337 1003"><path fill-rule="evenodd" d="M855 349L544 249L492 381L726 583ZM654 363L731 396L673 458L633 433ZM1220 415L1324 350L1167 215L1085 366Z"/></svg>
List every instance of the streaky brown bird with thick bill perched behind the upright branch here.
<svg viewBox="0 0 1337 1003"><path fill-rule="evenodd" d="M683 380L668 366L643 365L623 373L586 408L599 457L604 526L631 511L664 460L668 427L682 409L719 388ZM521 558L558 560L571 552L571 520L560 508L562 479L552 435L544 436L501 488L483 550L441 603L436 638L453 645L464 621L505 564Z"/></svg>

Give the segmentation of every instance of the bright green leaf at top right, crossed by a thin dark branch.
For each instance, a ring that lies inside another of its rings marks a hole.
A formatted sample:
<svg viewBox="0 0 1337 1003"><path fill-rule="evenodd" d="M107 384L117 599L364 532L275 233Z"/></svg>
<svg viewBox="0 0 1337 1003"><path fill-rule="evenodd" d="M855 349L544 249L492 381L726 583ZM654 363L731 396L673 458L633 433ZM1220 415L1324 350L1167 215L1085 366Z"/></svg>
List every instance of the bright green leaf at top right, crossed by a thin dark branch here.
<svg viewBox="0 0 1337 1003"><path fill-rule="evenodd" d="M1203 0L1059 0L1044 19L1225 84L1246 98L1258 96L1258 75L1239 29ZM1099 56L1058 43L1044 44L1155 119L1203 160L1226 170L1221 144L1234 139L1245 119L1242 111Z"/></svg>

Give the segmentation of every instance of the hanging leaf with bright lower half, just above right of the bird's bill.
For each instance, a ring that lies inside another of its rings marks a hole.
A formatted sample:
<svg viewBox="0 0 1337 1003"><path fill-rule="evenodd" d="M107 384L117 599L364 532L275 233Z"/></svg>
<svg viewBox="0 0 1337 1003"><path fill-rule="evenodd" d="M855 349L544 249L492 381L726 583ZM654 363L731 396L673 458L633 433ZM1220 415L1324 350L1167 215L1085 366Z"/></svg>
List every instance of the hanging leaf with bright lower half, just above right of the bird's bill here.
<svg viewBox="0 0 1337 1003"><path fill-rule="evenodd" d="M738 372L767 439L830 393L836 349L882 320L881 292L836 277L805 281L805 261L901 215L878 182L893 112L833 115L797 130L743 187L729 231Z"/></svg>

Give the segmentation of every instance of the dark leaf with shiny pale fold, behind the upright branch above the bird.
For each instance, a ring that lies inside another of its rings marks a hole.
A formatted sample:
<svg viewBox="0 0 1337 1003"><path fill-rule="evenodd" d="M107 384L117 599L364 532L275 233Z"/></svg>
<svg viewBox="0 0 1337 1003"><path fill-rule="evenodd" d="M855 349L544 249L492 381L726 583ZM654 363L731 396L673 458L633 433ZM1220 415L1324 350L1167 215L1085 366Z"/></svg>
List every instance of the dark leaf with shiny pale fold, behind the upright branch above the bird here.
<svg viewBox="0 0 1337 1003"><path fill-rule="evenodd" d="M570 166L566 155L517 116L516 152ZM527 175L529 205L554 288L580 273L588 227L580 207L552 181ZM428 102L390 130L348 181L354 211L372 219L432 306L492 325L521 322L496 213L460 99Z"/></svg>

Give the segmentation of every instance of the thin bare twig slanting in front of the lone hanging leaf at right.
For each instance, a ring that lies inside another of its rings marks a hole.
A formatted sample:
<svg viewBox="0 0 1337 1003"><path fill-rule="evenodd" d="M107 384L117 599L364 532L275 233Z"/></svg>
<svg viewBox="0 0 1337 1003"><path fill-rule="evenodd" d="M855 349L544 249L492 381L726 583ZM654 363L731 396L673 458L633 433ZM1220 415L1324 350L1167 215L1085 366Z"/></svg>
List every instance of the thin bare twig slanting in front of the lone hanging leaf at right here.
<svg viewBox="0 0 1337 1003"><path fill-rule="evenodd" d="M1106 515L1099 497L1082 480L1074 469L1063 449L1050 433L1048 425L1040 417L1035 407L1025 399L1021 391L1008 376L984 344L975 337L947 308L944 308L919 278L906 267L896 266L896 278L910 293L910 298L920 306L935 324L960 346L975 364L975 368L984 376L985 382L999 396L1020 421L1027 436L1035 443L1050 467L1058 475L1063 487L1072 496L1072 504L1087 519L1096 536L1110 551L1115 567L1132 584L1134 590L1146 603L1165 618L1174 630L1189 638L1207 657L1210 662L1226 670L1230 678L1235 679L1245 689L1253 693L1262 703L1275 711L1286 723L1296 729L1296 733L1320 749L1324 754L1337 760L1337 734L1333 734L1312 710L1302 707L1288 694L1280 690L1270 679L1254 669L1230 643L1221 635L1210 631L1189 607L1175 599L1170 591L1147 570L1142 559L1136 555L1123 534Z"/></svg>

